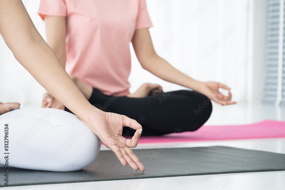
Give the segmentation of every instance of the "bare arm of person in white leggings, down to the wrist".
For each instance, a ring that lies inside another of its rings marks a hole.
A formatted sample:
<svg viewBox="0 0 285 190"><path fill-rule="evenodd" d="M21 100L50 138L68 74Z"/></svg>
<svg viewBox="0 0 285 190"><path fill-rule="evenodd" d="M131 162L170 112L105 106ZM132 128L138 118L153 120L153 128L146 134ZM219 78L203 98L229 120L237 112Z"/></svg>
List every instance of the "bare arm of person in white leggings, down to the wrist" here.
<svg viewBox="0 0 285 190"><path fill-rule="evenodd" d="M0 10L11 1L3 0ZM78 117L94 109L70 79L52 49L32 23L22 1L0 16L0 33L15 58L30 74Z"/></svg>

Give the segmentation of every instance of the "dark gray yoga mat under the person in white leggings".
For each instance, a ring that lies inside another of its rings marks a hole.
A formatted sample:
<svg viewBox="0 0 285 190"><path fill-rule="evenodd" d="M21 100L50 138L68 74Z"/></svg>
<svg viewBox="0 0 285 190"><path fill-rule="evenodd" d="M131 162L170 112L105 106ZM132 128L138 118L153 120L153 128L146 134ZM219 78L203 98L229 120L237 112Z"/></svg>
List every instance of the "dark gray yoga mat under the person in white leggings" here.
<svg viewBox="0 0 285 190"><path fill-rule="evenodd" d="M9 168L9 186L285 170L285 154L226 146L133 151L145 167L143 173L123 167L115 154L106 150L100 151L95 162L80 171ZM4 168L0 171L0 187L7 187L2 180Z"/></svg>

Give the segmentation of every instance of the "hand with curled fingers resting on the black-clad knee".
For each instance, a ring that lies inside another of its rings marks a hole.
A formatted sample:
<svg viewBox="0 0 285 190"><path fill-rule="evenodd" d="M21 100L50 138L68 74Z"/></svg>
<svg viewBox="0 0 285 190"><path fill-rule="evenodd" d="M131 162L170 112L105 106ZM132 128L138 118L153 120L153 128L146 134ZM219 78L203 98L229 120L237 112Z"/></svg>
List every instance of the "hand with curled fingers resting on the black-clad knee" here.
<svg viewBox="0 0 285 190"><path fill-rule="evenodd" d="M223 88L229 91L229 96L225 96L219 92L219 88ZM217 82L201 82L198 86L198 92L207 96L209 99L221 104L230 105L236 104L237 102L231 101L231 89L227 85L223 85Z"/></svg>

